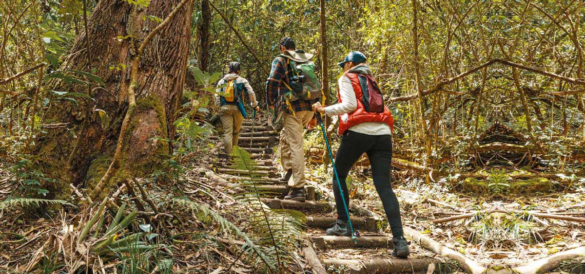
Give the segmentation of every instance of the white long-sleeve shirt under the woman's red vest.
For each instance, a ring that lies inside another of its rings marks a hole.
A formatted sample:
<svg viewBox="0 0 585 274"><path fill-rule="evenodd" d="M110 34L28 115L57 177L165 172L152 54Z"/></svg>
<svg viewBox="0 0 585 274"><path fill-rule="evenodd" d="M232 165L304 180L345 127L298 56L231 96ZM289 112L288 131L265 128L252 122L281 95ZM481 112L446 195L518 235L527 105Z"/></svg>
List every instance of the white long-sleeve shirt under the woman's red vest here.
<svg viewBox="0 0 585 274"><path fill-rule="evenodd" d="M356 93L353 91L352 81L350 81L350 79L347 78L345 74L339 78L338 85L341 103L326 106L325 114L327 116L338 115L339 119L346 122L348 117L347 115L357 109ZM377 122L359 123L350 127L348 130L369 135L392 134L392 131L390 131L390 126L388 126L386 123Z"/></svg>

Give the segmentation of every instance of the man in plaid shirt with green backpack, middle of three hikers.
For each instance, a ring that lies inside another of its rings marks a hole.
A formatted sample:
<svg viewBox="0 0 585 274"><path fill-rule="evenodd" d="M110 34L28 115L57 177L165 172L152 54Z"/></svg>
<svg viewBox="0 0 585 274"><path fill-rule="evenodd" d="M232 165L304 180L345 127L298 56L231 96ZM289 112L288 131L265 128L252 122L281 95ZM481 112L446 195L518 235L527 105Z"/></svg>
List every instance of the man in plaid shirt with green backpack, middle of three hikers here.
<svg viewBox="0 0 585 274"><path fill-rule="evenodd" d="M305 202L304 127L316 125L312 105L319 102L322 90L317 79L313 54L297 50L291 37L280 40L280 55L274 58L266 82L266 102L274 109L274 117L283 117L280 131L280 164L290 191L284 199ZM276 119L278 120L278 119Z"/></svg>

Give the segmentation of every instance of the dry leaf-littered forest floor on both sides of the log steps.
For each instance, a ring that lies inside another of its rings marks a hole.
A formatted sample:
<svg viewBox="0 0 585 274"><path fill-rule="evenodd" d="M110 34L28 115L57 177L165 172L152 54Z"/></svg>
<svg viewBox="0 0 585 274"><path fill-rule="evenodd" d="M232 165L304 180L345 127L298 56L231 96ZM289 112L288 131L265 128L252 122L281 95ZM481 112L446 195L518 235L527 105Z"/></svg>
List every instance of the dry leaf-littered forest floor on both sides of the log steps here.
<svg viewBox="0 0 585 274"><path fill-rule="evenodd" d="M310 146L311 144L309 144ZM315 156L315 155L313 155ZM313 157L315 158L315 157ZM149 183L147 191L154 197L161 210L173 213L174 218L161 220L159 227L172 235L183 234L173 241L175 249L174 272L177 273L208 273L212 270L230 268L234 273L254 273L253 268L238 260L240 249L244 244L218 230L217 226L209 226L194 218L195 212L176 207L173 197L183 196L206 204L225 218L235 221L246 219L246 212L236 211L238 200L234 199L229 188L217 185L214 181L201 175L201 170L212 169L212 161L203 162L194 158L185 164L182 179L177 182L162 184ZM0 182L7 182L9 162L0 166ZM326 195L320 189L331 188L331 170L322 165L307 166L307 179L318 183L317 196ZM576 182L567 192L534 195L473 195L462 193L454 187L456 183L445 178L438 182L424 182L424 175L412 174L404 170L396 170L393 181L395 193L401 204L404 226L414 228L428 235L441 244L459 251L470 259L484 266L518 266L524 263L545 258L560 251L585 245L584 223L566 220L553 220L536 217L531 214L506 214L480 212L460 220L433 224L439 218L473 213L477 210L505 209L523 212L552 212L562 216L583 217L583 200L585 187L583 179ZM560 175L559 175L560 176ZM560 178L560 177L559 177ZM2 181L4 179L4 181ZM559 179L559 181L562 178ZM553 180L554 181L554 180ZM351 199L353 202L385 216L367 168L355 168L348 179ZM5 200L17 189L17 185L3 184L0 188L0 200ZM122 192L121 200L132 200ZM331 200L331 199L329 199ZM76 207L66 206L65 210L49 208L43 217L36 216L30 210L0 210L0 271L15 271L22 268L33 254L53 234L59 234L64 224L75 224L82 212ZM333 216L332 214L330 214ZM242 223L240 223L241 225ZM164 227L164 228L162 228ZM243 227L242 227L243 228ZM23 239L11 238L9 234L24 235ZM307 230L307 235L322 235L324 231ZM377 235L391 236L389 227L378 231ZM433 258L436 261L452 264L448 258L435 255L417 244L410 245L411 258ZM319 256L338 259L367 259L372 257L393 258L390 250L377 249L331 249L319 251ZM301 259L301 257L297 257ZM585 260L577 259L562 263L556 272L584 273ZM63 264L56 255L43 262L45 269L53 266L59 269ZM202 272L202 270L204 270ZM207 270L207 271L206 271ZM300 269L296 269L300 271ZM435 273L452 273L437 271ZM455 270L456 271L456 270ZM15 271L16 272L16 271ZM457 272L457 271L456 271ZM49 272L50 273L50 272ZM215 273L221 273L215 272Z"/></svg>

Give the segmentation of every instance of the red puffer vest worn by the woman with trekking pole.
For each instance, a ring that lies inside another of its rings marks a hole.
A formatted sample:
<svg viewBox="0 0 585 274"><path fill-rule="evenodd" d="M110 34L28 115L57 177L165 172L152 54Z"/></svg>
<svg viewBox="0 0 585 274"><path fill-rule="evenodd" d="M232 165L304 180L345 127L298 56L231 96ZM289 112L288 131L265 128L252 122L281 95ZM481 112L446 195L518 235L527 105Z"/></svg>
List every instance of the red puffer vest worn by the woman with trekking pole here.
<svg viewBox="0 0 585 274"><path fill-rule="evenodd" d="M338 134L342 135L345 133L347 129L350 127L355 126L356 124L366 123L366 122L378 122L378 123L385 123L390 126L390 130L394 131L394 118L392 117L392 113L384 105L384 111L381 113L374 113L374 112L367 112L364 108L362 103L362 86L360 86L359 78L357 78L357 74L355 73L347 73L346 77L352 81L353 92L356 93L357 99L357 109L354 110L352 113L347 115L347 121L343 121L343 119L339 119L339 129ZM339 95L339 89L337 92L337 97L339 103L341 103L341 96Z"/></svg>

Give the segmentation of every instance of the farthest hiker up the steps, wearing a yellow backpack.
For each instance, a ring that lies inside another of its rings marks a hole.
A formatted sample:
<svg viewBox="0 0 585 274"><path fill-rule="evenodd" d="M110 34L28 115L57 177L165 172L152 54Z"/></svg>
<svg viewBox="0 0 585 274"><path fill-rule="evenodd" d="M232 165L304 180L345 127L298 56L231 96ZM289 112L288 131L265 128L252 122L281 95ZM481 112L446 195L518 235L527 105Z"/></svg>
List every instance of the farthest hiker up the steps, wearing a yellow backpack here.
<svg viewBox="0 0 585 274"><path fill-rule="evenodd" d="M221 107L219 120L223 127L223 147L225 147L228 157L232 154L233 147L238 145L240 127L246 116L244 91L250 97L250 105L259 110L256 94L250 83L245 78L240 77L240 69L239 62L230 62L229 72L219 80L215 94L215 105Z"/></svg>

